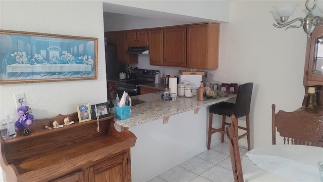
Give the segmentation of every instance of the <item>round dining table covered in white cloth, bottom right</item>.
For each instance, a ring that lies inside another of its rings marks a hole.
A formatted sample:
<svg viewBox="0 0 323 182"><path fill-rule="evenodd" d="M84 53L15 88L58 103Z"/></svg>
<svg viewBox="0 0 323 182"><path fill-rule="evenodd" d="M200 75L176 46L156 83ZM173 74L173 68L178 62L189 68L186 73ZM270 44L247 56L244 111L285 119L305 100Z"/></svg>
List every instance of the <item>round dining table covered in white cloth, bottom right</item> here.
<svg viewBox="0 0 323 182"><path fill-rule="evenodd" d="M243 178L251 181L321 181L323 148L270 145L248 151L241 160Z"/></svg>

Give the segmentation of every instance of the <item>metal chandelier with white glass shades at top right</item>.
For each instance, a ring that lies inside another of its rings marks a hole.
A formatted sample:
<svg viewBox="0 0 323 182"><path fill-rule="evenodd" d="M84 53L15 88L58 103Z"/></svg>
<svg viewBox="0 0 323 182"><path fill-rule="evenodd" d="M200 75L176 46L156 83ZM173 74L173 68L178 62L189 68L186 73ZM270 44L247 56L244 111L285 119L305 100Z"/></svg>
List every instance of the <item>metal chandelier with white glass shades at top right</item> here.
<svg viewBox="0 0 323 182"><path fill-rule="evenodd" d="M315 29L315 26L323 26L323 1L316 1L314 0L314 5L312 8L309 7L308 3L310 0L306 0L305 7L303 11L305 14L307 13L305 18L296 18L294 20L291 20L289 22L288 18L293 15L296 8L300 5L293 4L293 3L284 3L279 6L274 6L276 11L271 11L270 13L273 14L274 19L276 20L277 24L273 24L277 28L300 28L303 27L305 33L307 34L307 38L311 36L311 33ZM317 10L317 8L318 10ZM300 25L292 25L293 23L299 21Z"/></svg>

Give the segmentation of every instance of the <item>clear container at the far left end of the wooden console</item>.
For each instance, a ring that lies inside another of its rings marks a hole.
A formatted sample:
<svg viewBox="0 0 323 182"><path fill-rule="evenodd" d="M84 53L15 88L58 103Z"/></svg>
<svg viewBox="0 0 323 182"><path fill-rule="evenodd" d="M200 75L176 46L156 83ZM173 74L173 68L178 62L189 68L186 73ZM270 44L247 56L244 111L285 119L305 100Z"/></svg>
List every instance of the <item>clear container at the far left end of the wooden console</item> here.
<svg viewBox="0 0 323 182"><path fill-rule="evenodd" d="M1 119L1 138L7 140L14 138L16 135L15 121L7 114Z"/></svg>

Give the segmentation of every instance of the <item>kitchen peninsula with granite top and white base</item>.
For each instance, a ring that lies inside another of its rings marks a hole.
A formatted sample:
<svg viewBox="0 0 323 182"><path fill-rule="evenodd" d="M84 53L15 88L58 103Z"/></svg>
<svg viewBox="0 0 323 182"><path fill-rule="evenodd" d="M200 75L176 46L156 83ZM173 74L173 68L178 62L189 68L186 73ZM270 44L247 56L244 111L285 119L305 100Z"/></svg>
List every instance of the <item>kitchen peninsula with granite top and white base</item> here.
<svg viewBox="0 0 323 182"><path fill-rule="evenodd" d="M132 101L145 103L132 106L130 118L115 119L117 129L128 129L137 137L136 145L131 148L131 176L134 182L147 181L205 151L207 106L237 96L234 94L206 101L197 101L196 97L161 101L161 94L163 92L132 96ZM215 119L221 118L214 116ZM220 134L215 134L212 140L213 144L219 143Z"/></svg>

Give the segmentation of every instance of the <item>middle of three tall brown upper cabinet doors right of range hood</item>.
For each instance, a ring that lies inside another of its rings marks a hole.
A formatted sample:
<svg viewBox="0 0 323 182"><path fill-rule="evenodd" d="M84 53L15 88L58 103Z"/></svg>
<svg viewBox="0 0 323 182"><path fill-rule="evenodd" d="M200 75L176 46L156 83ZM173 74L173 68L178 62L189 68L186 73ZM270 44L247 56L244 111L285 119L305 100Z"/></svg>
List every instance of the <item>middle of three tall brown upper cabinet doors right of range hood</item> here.
<svg viewBox="0 0 323 182"><path fill-rule="evenodd" d="M164 29L164 65L186 66L186 26Z"/></svg>

